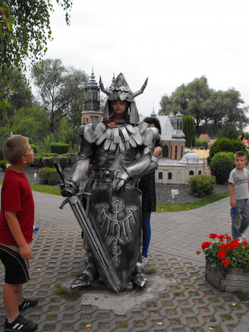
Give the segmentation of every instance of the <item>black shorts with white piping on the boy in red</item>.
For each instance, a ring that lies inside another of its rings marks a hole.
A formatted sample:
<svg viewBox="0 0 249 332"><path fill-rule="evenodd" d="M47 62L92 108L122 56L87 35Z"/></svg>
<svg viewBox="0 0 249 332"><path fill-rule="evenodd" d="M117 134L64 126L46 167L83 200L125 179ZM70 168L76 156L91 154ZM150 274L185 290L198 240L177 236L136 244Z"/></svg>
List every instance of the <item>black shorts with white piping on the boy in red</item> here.
<svg viewBox="0 0 249 332"><path fill-rule="evenodd" d="M29 281L28 261L24 260L18 251L0 244L0 260L5 268L6 284L20 285Z"/></svg>

